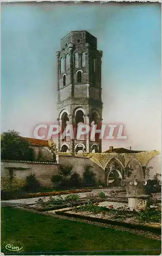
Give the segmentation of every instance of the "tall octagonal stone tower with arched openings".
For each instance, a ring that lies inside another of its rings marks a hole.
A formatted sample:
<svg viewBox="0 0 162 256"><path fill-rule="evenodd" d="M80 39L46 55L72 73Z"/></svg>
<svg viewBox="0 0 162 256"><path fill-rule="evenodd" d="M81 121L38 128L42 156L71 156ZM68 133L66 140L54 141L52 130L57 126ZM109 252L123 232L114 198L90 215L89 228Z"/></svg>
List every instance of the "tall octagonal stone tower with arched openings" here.
<svg viewBox="0 0 162 256"><path fill-rule="evenodd" d="M57 56L58 123L64 131L67 124L77 129L79 123L102 123L101 58L97 38L87 31L73 31L61 39ZM63 152L101 152L99 134L80 140L58 138L58 150Z"/></svg>

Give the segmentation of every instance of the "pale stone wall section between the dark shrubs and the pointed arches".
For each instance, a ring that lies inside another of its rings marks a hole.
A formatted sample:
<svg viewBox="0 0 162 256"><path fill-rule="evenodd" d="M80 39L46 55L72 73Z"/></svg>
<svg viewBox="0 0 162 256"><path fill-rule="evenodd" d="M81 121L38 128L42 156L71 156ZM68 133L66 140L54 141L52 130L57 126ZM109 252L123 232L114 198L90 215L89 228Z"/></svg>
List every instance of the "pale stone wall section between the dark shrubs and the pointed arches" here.
<svg viewBox="0 0 162 256"><path fill-rule="evenodd" d="M70 157L70 156L58 156L59 164L71 164L73 165L73 172L77 172L83 177L84 168L86 165L91 165L91 170L96 174L96 179L104 182L105 173L104 170L96 163L90 161L85 157Z"/></svg>

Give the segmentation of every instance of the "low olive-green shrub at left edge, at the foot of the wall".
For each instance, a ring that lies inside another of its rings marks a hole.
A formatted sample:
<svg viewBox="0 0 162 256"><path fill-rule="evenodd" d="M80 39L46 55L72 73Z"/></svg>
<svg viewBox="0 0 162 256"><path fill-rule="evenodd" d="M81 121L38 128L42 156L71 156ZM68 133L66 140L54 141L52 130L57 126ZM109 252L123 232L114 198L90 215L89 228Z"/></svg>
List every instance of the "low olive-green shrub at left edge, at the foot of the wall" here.
<svg viewBox="0 0 162 256"><path fill-rule="evenodd" d="M16 191L19 188L25 186L26 181L22 179L12 178L11 177L2 177L1 178L1 189L3 191Z"/></svg>

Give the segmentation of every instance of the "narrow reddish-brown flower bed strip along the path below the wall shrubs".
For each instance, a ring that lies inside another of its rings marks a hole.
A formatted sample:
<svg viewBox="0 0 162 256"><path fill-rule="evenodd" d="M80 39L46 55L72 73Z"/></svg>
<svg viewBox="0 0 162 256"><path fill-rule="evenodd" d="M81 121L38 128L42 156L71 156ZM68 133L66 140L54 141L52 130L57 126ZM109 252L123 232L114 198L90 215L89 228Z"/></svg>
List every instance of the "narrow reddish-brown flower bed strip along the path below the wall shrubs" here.
<svg viewBox="0 0 162 256"><path fill-rule="evenodd" d="M64 191L50 191L50 192L42 192L42 193L31 193L31 194L25 194L21 197L16 197L14 199L23 199L23 198L33 198L33 197L49 197L49 196L57 196L57 195L68 195L68 194L76 194L76 193L86 193L90 192L89 189L76 189L76 190L64 190Z"/></svg>

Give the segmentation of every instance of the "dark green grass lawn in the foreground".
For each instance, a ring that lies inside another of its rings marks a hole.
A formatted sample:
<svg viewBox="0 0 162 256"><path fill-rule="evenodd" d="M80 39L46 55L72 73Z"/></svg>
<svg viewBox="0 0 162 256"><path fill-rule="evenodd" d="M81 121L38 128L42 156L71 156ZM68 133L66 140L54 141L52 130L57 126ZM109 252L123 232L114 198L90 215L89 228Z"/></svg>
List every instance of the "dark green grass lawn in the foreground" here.
<svg viewBox="0 0 162 256"><path fill-rule="evenodd" d="M159 255L160 241L137 234L86 223L56 219L16 208L2 208L2 252L7 244L23 246L19 251L49 254ZM20 247L20 246L19 246ZM155 249L155 250L152 250ZM159 250L158 250L159 249ZM99 251L104 252L81 252ZM116 250L112 252L105 252ZM124 250L117 252L117 250ZM125 251L127 250L127 251ZM128 251L129 250L129 251ZM134 251L139 250L139 251ZM58 251L61 251L58 253ZM79 251L79 252L67 252ZM52 253L53 252L53 253ZM14 252L10 252L10 254ZM19 254L18 253L18 254ZM33 254L33 253L32 253Z"/></svg>

